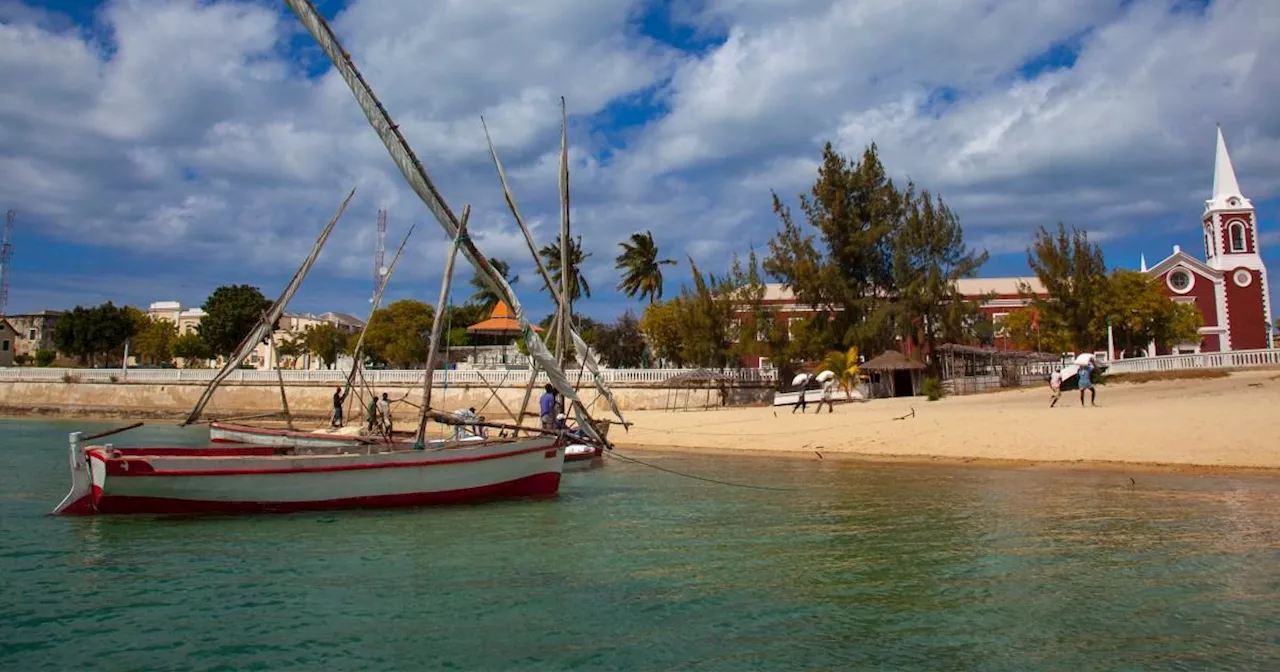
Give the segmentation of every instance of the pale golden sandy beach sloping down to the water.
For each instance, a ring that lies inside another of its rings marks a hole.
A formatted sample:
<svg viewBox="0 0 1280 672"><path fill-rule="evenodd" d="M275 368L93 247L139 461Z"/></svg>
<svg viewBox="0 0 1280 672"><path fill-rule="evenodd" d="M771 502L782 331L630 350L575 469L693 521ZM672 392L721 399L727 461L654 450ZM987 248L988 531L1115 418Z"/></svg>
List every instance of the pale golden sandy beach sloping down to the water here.
<svg viewBox="0 0 1280 672"><path fill-rule="evenodd" d="M790 407L635 411L620 449L791 453L818 460L1148 466L1280 470L1280 372L1111 383L1098 406L1078 392L1050 408L1048 388L837 404L815 415ZM895 420L911 413L914 417Z"/></svg>

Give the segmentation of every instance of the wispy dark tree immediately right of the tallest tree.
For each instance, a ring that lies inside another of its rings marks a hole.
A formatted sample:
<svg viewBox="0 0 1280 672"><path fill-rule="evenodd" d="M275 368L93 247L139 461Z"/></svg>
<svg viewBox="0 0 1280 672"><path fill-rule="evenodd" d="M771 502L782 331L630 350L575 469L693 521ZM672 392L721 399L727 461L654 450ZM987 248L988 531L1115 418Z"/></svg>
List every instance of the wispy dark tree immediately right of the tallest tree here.
<svg viewBox="0 0 1280 672"><path fill-rule="evenodd" d="M896 323L900 335L934 352L940 339L965 339L978 308L960 294L956 280L977 275L988 256L965 247L960 218L942 198L925 191L909 200L892 241Z"/></svg>

